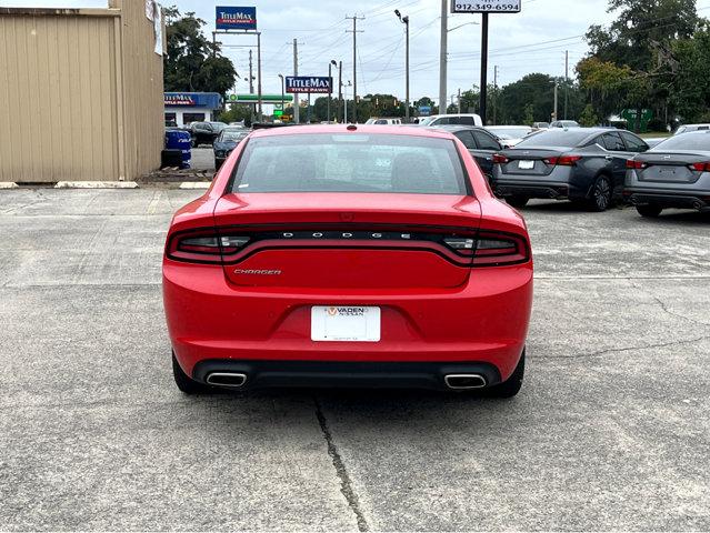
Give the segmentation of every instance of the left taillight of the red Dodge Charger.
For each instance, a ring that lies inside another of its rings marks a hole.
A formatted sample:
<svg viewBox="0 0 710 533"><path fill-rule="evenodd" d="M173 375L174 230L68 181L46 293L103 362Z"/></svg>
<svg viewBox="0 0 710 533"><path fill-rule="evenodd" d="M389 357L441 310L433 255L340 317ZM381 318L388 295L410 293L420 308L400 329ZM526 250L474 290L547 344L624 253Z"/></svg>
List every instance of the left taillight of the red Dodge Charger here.
<svg viewBox="0 0 710 533"><path fill-rule="evenodd" d="M168 242L168 258L193 263L221 263L223 255L236 253L248 237L222 235L214 230L178 232Z"/></svg>

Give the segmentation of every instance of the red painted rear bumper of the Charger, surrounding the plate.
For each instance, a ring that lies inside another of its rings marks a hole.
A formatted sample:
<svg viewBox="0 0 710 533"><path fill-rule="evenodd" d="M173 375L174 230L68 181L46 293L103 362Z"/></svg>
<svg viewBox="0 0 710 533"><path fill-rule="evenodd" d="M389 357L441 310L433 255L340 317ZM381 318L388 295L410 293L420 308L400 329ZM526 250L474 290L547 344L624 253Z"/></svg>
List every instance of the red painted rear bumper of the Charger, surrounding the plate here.
<svg viewBox="0 0 710 533"><path fill-rule="evenodd" d="M454 289L237 288L221 266L163 262L163 300L180 366L202 361L487 363L514 370L532 306L532 262L473 269ZM377 305L380 342L314 342L312 305ZM432 374L433 375L433 374ZM418 378L419 379L419 378Z"/></svg>

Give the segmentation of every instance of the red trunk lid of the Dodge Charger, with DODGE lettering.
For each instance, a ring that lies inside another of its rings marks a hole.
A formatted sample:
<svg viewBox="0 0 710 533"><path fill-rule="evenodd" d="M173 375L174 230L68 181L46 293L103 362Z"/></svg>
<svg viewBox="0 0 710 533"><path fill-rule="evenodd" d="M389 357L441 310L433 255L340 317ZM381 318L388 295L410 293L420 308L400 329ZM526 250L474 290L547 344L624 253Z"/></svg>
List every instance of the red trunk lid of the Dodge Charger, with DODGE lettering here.
<svg viewBox="0 0 710 533"><path fill-rule="evenodd" d="M479 221L476 199L437 194L228 194L214 211L220 235L249 239L224 255L224 275L263 288L459 286L471 258L443 240Z"/></svg>

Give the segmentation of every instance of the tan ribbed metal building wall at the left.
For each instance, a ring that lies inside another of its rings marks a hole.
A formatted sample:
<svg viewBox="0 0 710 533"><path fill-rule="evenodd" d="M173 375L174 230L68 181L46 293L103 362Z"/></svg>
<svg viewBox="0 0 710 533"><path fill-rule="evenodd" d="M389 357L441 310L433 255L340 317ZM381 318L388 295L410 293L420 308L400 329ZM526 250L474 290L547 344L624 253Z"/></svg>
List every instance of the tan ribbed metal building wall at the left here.
<svg viewBox="0 0 710 533"><path fill-rule="evenodd" d="M133 180L160 165L162 58L144 2L0 8L0 181Z"/></svg>

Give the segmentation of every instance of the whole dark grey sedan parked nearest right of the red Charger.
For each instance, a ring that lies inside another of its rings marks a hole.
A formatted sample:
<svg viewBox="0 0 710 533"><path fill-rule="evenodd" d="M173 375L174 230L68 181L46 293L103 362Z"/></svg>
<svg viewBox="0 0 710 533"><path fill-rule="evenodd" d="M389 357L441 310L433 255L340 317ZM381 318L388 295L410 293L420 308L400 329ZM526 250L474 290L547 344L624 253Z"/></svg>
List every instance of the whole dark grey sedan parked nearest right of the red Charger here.
<svg viewBox="0 0 710 533"><path fill-rule="evenodd" d="M648 149L628 131L552 128L493 155L493 182L516 207L550 198L606 211L621 195L627 160Z"/></svg>

